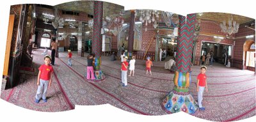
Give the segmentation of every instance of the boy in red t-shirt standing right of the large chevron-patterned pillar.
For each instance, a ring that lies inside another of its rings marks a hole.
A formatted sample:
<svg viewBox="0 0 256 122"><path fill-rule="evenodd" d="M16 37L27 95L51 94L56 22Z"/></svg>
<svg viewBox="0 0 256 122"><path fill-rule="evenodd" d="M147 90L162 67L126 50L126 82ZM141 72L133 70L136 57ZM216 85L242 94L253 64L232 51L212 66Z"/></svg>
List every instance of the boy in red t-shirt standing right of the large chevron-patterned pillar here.
<svg viewBox="0 0 256 122"><path fill-rule="evenodd" d="M202 107L204 88L206 89L206 92L208 92L207 82L206 82L206 75L205 75L206 70L207 70L206 66L202 66L201 67L201 73L199 75L197 75L196 91L198 92L197 93L197 100L198 100L198 105L199 105L199 110L200 111L205 110L205 108Z"/></svg>

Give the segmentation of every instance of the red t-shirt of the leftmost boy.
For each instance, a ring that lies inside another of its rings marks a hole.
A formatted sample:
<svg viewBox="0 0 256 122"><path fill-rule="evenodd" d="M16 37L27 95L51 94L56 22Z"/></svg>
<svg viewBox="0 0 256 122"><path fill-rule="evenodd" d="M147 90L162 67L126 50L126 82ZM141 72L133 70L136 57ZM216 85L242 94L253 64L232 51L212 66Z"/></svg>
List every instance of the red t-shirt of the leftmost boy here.
<svg viewBox="0 0 256 122"><path fill-rule="evenodd" d="M41 65L38 70L41 71L40 79L42 80L50 80L51 78L51 72L53 72L53 68L51 65Z"/></svg>

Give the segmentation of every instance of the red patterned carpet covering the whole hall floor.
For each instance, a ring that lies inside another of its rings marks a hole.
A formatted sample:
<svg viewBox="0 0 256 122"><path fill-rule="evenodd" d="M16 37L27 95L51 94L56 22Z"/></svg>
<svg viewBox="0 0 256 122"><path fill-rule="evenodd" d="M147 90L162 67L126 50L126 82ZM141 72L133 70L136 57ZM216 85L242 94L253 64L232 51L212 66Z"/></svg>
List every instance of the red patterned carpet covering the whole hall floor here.
<svg viewBox="0 0 256 122"><path fill-rule="evenodd" d="M101 70L106 80L88 82L86 56L77 57L73 52L72 66L67 65L67 52L60 52L54 66L54 80L47 96L48 102L34 102L38 66L43 63L42 50L33 53L35 72L21 71L20 83L13 89L1 91L1 98L20 107L35 111L67 111L74 105L100 105L109 103L125 111L145 115L164 115L161 107L165 95L173 89L173 73L164 70L164 61L153 62L152 75L145 74L145 61L136 60L134 77L128 77L128 86L121 82L120 61L102 57ZM50 52L49 52L50 53ZM196 75L200 66L192 66L190 91L197 100ZM225 68L220 64L208 66L209 92L204 93L205 111L194 116L211 121L236 121L255 116L255 75L248 70Z"/></svg>

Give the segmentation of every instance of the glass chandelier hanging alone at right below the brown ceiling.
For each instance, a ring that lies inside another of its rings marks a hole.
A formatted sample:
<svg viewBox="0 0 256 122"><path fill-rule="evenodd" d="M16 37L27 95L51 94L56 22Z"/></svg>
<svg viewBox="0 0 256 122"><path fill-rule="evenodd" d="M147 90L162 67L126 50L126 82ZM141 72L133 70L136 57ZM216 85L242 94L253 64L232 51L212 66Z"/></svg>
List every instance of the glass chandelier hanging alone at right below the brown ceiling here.
<svg viewBox="0 0 256 122"><path fill-rule="evenodd" d="M239 23L233 20L233 17L231 15L231 19L228 19L227 25L226 25L226 21L223 20L223 22L220 23L220 27L221 27L221 32L228 33L230 35L232 33L238 32Z"/></svg>

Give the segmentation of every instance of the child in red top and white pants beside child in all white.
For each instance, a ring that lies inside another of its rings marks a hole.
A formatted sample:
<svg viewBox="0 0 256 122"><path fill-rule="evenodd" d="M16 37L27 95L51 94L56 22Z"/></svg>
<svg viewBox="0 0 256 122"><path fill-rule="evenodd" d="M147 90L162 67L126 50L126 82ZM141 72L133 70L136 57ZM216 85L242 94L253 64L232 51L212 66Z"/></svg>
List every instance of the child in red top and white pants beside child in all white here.
<svg viewBox="0 0 256 122"><path fill-rule="evenodd" d="M124 62L122 62L122 67L121 67L121 71L122 71L122 86L127 86L127 68L129 63L127 63L127 56L124 56Z"/></svg>

